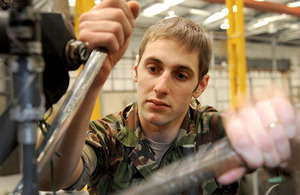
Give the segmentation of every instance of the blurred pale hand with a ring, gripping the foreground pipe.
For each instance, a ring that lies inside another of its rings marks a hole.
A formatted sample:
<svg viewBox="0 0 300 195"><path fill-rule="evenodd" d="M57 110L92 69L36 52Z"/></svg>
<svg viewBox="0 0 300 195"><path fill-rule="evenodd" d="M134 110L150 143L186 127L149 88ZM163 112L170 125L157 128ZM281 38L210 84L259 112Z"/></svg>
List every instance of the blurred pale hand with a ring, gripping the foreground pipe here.
<svg viewBox="0 0 300 195"><path fill-rule="evenodd" d="M290 140L299 137L299 117L290 101L279 95L243 106L226 117L225 129L232 147L248 168L286 168L291 157ZM245 167L230 170L218 181L230 184L245 171Z"/></svg>

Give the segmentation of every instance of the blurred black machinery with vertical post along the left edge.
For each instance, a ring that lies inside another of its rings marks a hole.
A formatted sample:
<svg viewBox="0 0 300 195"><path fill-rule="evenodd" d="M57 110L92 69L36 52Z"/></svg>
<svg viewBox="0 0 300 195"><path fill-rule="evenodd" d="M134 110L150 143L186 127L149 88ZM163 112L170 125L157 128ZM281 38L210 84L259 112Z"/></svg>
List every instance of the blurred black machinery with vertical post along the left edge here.
<svg viewBox="0 0 300 195"><path fill-rule="evenodd" d="M39 13L30 0L0 0L0 54L13 73L13 101L0 117L0 165L19 144L23 149L22 194L38 194L37 122L66 92L68 71L89 57L60 13ZM10 8L10 9L9 9Z"/></svg>

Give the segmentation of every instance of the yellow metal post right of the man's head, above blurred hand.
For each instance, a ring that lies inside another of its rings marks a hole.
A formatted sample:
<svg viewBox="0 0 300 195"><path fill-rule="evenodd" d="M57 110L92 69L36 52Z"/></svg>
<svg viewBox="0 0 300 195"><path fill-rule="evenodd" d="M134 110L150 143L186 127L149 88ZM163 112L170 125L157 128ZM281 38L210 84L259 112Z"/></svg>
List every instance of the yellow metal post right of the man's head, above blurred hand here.
<svg viewBox="0 0 300 195"><path fill-rule="evenodd" d="M247 62L244 30L244 1L226 0L229 28L227 29L228 67L231 109L238 106L238 97L247 97ZM234 12L236 6L236 12Z"/></svg>

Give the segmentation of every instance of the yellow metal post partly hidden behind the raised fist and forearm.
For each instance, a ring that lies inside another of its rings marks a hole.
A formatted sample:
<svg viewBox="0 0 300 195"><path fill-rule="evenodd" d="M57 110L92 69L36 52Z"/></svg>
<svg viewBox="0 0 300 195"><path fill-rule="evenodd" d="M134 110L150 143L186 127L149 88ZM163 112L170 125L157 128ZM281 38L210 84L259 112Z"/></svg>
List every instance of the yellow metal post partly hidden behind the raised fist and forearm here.
<svg viewBox="0 0 300 195"><path fill-rule="evenodd" d="M84 12L89 11L91 8L95 6L94 0L76 0L75 5L75 18L74 18L74 28L76 35L78 37L78 29L79 29L79 18L80 15ZM80 70L79 70L80 71ZM100 103L100 94L97 97L96 104L91 116L91 120L96 120L101 118L101 103Z"/></svg>

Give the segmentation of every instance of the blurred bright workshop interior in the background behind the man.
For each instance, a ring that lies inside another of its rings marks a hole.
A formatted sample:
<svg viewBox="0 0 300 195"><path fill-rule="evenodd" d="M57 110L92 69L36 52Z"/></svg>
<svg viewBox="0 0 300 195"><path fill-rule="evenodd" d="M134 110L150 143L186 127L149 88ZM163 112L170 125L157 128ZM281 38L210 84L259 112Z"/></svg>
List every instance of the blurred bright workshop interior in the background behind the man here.
<svg viewBox="0 0 300 195"><path fill-rule="evenodd" d="M85 3L86 0L77 0ZM91 0L90 0L91 1ZM129 48L124 57L113 69L100 95L99 105L95 108L101 116L117 112L136 99L136 85L132 80L132 68L136 63L139 44L145 30L155 22L174 16L188 17L197 24L203 25L213 40L213 59L209 74L208 88L199 98L202 105L211 105L220 111L229 110L232 101L232 73L229 60L236 57L229 55L228 45L232 35L228 34L230 22L225 0L137 0L141 6L140 15L132 34ZM4 1L9 2L9 1ZM93 2L95 4L100 1ZM75 1L67 0L33 0L33 6L41 12L62 12L66 19L74 25L79 12L84 11ZM76 8L75 8L76 7ZM154 11L150 11L150 9ZM159 10L161 9L161 10ZM235 9L233 8L233 12ZM4 10L1 10L4 12ZM155 12L155 13L154 13ZM300 109L300 1L297 0L244 0L242 26L245 41L244 53L239 57L246 59L246 71L238 72L233 77L244 80L247 97L257 99L268 96L274 85L283 90ZM55 32L55 29L53 29ZM237 75L237 74L241 75ZM78 70L70 71L69 88L75 82ZM238 84L237 84L238 85ZM11 70L4 58L0 57L0 113L12 102ZM63 98L54 105L58 108ZM113 102L113 103L110 103ZM99 116L99 114L98 114ZM97 117L97 115L96 115ZM16 157L18 155L14 155ZM7 165L5 165L7 166ZM6 168L0 167L0 194L2 181L6 180ZM19 168L13 168L15 174ZM8 169L6 169L8 170ZM2 172L2 173L1 173ZM9 172L9 171L8 171ZM255 172L247 179L246 191L241 194L261 194L263 189L259 180L267 182L265 174ZM299 182L299 181L293 181ZM290 188L300 193L300 184L289 183ZM267 184L266 184L267 185ZM269 184L268 184L269 185ZM249 187L250 186L250 187ZM296 189L298 188L298 189ZM6 191L7 192L7 191ZM83 192L85 193L85 192Z"/></svg>

